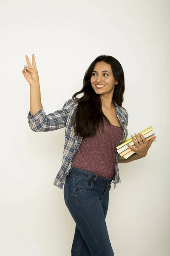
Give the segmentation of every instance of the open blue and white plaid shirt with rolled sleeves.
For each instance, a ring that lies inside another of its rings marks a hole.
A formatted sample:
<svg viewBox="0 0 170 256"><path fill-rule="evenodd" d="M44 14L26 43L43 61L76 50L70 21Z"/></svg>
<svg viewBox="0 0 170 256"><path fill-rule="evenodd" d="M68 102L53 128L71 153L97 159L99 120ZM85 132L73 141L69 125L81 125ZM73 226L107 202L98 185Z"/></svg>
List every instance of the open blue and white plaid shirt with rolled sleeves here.
<svg viewBox="0 0 170 256"><path fill-rule="evenodd" d="M128 113L125 108L116 104L113 100L116 107L116 115L119 119L119 122L123 128L123 135L118 145L123 143L127 138L127 125L128 125ZM45 114L44 108L42 107L37 113L31 116L30 111L28 113L28 124L32 131L35 132L45 132L45 131L54 131L65 127L65 145L62 156L62 165L61 168L54 180L54 185L63 189L63 185L66 179L66 176L71 170L71 164L74 159L79 145L82 142L82 138L79 135L74 137L74 127L71 124L71 121L74 116L74 110L77 106L77 102L74 103L73 99L68 99L63 108L50 113ZM118 146L116 145L116 146ZM116 188L116 183L120 183L119 168L118 168L118 153L115 151L116 161L115 161L115 176L114 180L114 189Z"/></svg>

